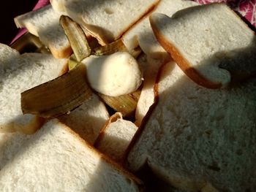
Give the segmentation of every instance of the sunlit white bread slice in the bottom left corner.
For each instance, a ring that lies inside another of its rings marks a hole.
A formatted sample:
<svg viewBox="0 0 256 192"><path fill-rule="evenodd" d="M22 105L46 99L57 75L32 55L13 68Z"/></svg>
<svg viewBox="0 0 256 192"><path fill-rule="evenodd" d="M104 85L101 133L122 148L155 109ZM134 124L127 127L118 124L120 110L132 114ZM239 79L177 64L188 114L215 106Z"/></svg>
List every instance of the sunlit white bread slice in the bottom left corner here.
<svg viewBox="0 0 256 192"><path fill-rule="evenodd" d="M1 169L1 191L140 191L142 183L50 120Z"/></svg>

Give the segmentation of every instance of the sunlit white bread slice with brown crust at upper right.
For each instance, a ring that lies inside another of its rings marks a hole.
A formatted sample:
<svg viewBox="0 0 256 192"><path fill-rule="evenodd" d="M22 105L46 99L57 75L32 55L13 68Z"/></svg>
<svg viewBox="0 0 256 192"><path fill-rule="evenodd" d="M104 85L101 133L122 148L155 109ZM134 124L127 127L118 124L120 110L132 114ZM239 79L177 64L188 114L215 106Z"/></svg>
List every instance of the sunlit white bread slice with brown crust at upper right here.
<svg viewBox="0 0 256 192"><path fill-rule="evenodd" d="M256 73L256 38L225 4L150 17L157 40L197 84L221 88ZM249 59L248 59L249 58Z"/></svg>

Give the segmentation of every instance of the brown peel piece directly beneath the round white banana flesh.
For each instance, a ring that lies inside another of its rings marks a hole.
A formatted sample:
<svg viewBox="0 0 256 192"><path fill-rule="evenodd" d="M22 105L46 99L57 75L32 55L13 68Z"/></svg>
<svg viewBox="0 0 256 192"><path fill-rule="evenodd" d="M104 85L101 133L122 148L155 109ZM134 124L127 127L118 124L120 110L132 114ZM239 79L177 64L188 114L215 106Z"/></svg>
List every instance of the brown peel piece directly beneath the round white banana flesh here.
<svg viewBox="0 0 256 192"><path fill-rule="evenodd" d="M140 90L133 93L129 93L123 96L105 96L101 93L98 95L108 104L109 107L113 108L117 112L121 112L124 117L131 116L137 107L138 100L140 98Z"/></svg>

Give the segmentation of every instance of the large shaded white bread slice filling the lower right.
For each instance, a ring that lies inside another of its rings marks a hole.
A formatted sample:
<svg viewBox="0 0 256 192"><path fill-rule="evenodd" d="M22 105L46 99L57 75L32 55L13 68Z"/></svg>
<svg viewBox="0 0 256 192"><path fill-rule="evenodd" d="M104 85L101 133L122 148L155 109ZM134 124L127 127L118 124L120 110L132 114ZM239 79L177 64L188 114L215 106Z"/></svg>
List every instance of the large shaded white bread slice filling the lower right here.
<svg viewBox="0 0 256 192"><path fill-rule="evenodd" d="M130 170L152 172L189 191L256 191L256 79L231 88L197 85L173 63L130 150Z"/></svg>

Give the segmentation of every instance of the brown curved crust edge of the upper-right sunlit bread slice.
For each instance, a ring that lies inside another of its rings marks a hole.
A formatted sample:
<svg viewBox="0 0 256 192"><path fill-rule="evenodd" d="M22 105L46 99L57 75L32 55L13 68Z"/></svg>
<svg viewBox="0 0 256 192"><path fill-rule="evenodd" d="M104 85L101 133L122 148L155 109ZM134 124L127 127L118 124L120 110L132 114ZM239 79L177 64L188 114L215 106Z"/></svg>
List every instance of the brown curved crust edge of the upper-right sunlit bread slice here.
<svg viewBox="0 0 256 192"><path fill-rule="evenodd" d="M157 30L157 27L154 25L154 22L149 18L152 30L154 31L155 37L160 45L172 56L172 58L176 61L181 70L187 74L189 78L191 78L198 85L201 85L206 88L222 88L222 83L216 83L206 80L201 74L195 70L189 61L181 54L177 47L175 47L171 42L165 39L165 36L161 33L161 31Z"/></svg>

